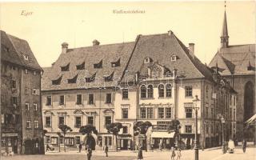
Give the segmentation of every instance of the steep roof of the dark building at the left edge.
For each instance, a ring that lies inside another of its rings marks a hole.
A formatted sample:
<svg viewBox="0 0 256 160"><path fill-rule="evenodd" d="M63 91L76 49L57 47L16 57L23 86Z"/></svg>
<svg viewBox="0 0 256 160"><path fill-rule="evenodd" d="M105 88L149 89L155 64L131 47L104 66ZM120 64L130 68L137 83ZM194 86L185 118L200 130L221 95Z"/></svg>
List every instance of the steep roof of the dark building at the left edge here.
<svg viewBox="0 0 256 160"><path fill-rule="evenodd" d="M16 38L10 34L6 34L6 32L1 30L1 45L2 60L12 62L20 66L42 70L36 58L34 57L28 42L25 40ZM25 60L24 55L28 56L28 60Z"/></svg>

